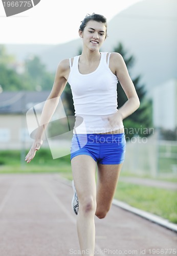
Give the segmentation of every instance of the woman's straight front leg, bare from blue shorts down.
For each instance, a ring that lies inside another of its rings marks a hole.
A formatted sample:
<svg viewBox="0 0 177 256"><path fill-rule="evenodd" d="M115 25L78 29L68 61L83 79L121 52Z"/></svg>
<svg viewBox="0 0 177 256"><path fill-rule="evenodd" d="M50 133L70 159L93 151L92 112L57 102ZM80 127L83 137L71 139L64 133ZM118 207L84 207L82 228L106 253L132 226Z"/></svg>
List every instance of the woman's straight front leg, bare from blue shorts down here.
<svg viewBox="0 0 177 256"><path fill-rule="evenodd" d="M87 155L71 160L73 180L79 200L77 232L82 255L94 256L96 211L96 162Z"/></svg>

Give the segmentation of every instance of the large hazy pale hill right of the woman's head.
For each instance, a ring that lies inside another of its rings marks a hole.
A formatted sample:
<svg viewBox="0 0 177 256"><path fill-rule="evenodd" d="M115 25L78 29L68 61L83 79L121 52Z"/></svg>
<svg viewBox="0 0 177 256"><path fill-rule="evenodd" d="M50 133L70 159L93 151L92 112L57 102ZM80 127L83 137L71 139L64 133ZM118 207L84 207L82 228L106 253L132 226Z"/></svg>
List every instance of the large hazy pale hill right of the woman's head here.
<svg viewBox="0 0 177 256"><path fill-rule="evenodd" d="M147 88L177 78L176 10L176 0L147 0L122 11L108 25L104 47L110 51L122 41L136 57L131 74L142 74Z"/></svg>

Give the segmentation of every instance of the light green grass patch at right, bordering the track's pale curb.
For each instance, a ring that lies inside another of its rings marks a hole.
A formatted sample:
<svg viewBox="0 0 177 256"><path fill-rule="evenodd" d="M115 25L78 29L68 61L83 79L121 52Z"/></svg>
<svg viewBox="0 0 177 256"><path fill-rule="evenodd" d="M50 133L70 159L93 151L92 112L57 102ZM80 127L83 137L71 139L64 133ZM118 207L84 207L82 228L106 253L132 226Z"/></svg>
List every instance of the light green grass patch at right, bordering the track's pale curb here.
<svg viewBox="0 0 177 256"><path fill-rule="evenodd" d="M115 198L177 223L176 191L119 182Z"/></svg>

